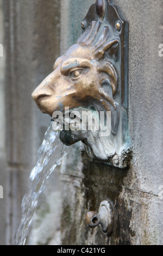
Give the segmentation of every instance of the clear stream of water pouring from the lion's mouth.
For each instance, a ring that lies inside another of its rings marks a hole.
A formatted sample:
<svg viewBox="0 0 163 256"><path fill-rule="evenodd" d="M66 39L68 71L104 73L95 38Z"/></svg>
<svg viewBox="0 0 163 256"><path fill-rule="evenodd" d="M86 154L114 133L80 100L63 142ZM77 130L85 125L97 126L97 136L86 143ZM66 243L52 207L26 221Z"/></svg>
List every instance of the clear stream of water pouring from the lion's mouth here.
<svg viewBox="0 0 163 256"><path fill-rule="evenodd" d="M25 244L28 228L32 222L39 195L45 188L45 182L67 153L68 147L59 139L60 132L54 131L52 125L53 121L45 133L36 166L30 173L29 192L24 195L22 200L22 220L16 235L16 245Z"/></svg>

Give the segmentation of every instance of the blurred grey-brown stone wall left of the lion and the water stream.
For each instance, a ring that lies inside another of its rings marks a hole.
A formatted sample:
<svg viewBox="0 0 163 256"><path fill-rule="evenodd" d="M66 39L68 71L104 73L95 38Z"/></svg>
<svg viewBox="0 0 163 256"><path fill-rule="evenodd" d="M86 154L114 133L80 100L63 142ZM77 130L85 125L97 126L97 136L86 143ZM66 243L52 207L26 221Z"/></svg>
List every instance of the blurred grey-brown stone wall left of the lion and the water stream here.
<svg viewBox="0 0 163 256"><path fill-rule="evenodd" d="M3 1L5 48L5 115L7 145L7 244L21 221L21 201L29 173L50 117L43 115L31 94L60 56L60 2ZM53 185L52 185L53 189ZM50 197L50 196L49 196ZM47 199L48 200L48 199Z"/></svg>

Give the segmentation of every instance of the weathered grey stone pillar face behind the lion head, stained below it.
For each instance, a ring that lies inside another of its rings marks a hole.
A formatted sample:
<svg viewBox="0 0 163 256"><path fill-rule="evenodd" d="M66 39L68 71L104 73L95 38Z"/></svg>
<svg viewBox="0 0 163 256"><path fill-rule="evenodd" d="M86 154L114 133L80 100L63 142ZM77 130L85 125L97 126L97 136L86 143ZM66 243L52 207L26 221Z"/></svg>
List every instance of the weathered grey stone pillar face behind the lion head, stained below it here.
<svg viewBox="0 0 163 256"><path fill-rule="evenodd" d="M161 0L111 2L120 5L129 21L132 159L130 167L121 170L90 163L80 155L79 149L75 149L75 156L70 149L68 160L62 163L62 243L161 245L163 57L159 57L158 47L163 42L163 5ZM77 24L80 25L91 3L95 1L61 1L61 46L64 51L70 42L76 42ZM84 220L86 212L98 210L106 198L112 200L117 211L116 225L109 239L99 227L87 228Z"/></svg>

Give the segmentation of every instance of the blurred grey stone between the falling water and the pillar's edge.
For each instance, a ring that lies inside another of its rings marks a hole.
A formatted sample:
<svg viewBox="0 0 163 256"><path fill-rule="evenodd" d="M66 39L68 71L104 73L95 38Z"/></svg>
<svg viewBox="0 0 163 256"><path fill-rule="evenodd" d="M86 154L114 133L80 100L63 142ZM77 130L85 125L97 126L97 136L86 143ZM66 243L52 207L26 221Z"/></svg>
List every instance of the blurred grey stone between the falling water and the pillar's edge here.
<svg viewBox="0 0 163 256"><path fill-rule="evenodd" d="M60 245L60 168L55 168L46 181L34 214L32 229L29 233L29 245Z"/></svg>

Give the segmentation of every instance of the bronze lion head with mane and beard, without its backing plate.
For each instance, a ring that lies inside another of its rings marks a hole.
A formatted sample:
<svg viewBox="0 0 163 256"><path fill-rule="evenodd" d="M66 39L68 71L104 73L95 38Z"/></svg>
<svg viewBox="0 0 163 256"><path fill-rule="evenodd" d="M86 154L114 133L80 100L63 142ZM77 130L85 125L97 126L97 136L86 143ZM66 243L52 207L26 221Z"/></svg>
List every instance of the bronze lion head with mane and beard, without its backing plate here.
<svg viewBox="0 0 163 256"><path fill-rule="evenodd" d="M116 155L117 149L114 144L120 123L120 101L118 100L120 94L118 72L120 70L115 68L121 55L120 38L112 34L110 26L105 22L107 1L97 1L97 19L91 21L90 26L85 29L77 43L55 61L54 71L32 94L41 111L51 116L55 111L64 113L65 107L110 111L110 138L100 138L99 143L97 133L96 139L94 136L89 140L90 132L85 137L80 132L77 140L69 139L66 142L64 131L61 136L65 144L73 144L81 139L86 144L87 153L91 157L103 160ZM71 137L71 134L69 133L68 136ZM99 147L99 144L103 144L103 147Z"/></svg>

